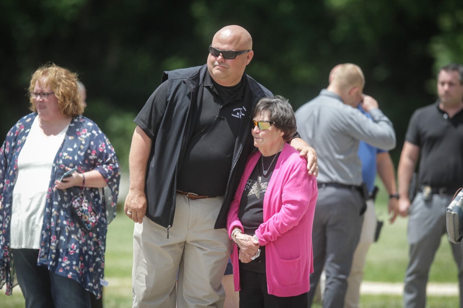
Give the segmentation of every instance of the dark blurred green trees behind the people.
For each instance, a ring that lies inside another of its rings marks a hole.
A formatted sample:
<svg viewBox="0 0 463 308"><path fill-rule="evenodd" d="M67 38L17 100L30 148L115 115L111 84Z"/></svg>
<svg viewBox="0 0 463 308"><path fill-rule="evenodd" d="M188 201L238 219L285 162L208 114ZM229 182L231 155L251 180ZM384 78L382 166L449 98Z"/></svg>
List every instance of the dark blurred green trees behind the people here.
<svg viewBox="0 0 463 308"><path fill-rule="evenodd" d="M126 166L135 115L161 73L202 65L213 34L240 24L253 36L247 73L297 109L338 63L360 65L365 92L394 122L401 150L414 109L435 100L435 73L463 63L461 0L2 0L0 134L28 113L31 73L53 61L78 72L85 115Z"/></svg>

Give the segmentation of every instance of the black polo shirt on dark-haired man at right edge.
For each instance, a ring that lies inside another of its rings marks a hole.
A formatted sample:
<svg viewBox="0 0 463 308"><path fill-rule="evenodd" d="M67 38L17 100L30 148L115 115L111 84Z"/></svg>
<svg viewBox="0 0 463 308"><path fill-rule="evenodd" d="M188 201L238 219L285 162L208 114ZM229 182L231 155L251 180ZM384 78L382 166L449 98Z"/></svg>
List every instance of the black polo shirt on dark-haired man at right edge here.
<svg viewBox="0 0 463 308"><path fill-rule="evenodd" d="M420 148L419 186L463 185L463 110L453 118L439 108L439 102L416 110L405 139Z"/></svg>

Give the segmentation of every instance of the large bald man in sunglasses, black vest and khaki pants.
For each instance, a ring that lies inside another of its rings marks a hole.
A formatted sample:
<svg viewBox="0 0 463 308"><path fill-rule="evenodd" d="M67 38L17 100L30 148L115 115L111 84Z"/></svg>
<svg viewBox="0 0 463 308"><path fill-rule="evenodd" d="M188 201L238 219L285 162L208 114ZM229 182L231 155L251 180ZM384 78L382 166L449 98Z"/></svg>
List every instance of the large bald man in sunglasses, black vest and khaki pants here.
<svg viewBox="0 0 463 308"><path fill-rule="evenodd" d="M222 28L206 65L164 72L134 120L124 206L136 223L133 307L223 306L226 217L254 148L250 112L272 95L244 73L253 56L248 31ZM317 174L313 149L300 138L291 145Z"/></svg>

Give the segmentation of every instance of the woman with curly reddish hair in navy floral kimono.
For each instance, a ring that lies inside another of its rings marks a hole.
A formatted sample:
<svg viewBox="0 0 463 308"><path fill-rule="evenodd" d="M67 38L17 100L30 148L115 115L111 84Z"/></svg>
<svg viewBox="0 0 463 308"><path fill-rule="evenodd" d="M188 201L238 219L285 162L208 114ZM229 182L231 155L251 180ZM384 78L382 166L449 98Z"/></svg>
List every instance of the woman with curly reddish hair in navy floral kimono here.
<svg viewBox="0 0 463 308"><path fill-rule="evenodd" d="M90 307L90 292L101 296L119 163L81 115L76 74L40 67L29 91L32 113L0 148L0 286L10 295L16 273L26 307Z"/></svg>

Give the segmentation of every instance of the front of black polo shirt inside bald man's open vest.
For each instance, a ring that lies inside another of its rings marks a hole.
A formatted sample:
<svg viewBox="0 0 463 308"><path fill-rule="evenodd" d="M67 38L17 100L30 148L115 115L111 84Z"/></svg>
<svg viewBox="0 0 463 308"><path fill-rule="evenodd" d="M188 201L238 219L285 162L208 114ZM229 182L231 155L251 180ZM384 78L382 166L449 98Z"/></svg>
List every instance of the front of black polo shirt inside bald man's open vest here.
<svg viewBox="0 0 463 308"><path fill-rule="evenodd" d="M177 189L206 196L225 194L233 151L242 121L249 121L243 106L245 83L224 87L204 79L202 100L197 102L197 121L181 164ZM246 116L245 116L246 115Z"/></svg>

